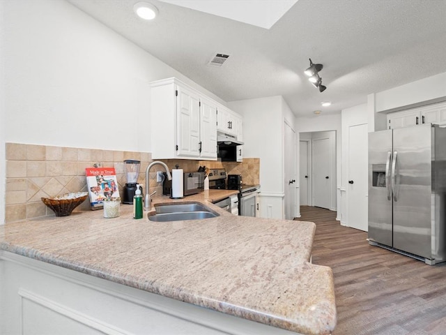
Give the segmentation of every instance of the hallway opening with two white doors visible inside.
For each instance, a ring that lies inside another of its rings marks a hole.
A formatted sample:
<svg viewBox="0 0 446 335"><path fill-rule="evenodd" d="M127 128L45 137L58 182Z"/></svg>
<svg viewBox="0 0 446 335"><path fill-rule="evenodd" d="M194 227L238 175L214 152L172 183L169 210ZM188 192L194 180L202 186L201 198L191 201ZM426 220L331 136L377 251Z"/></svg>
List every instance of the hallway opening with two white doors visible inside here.
<svg viewBox="0 0 446 335"><path fill-rule="evenodd" d="M300 133L300 205L337 210L336 131Z"/></svg>

